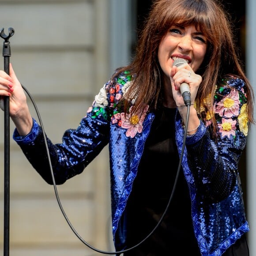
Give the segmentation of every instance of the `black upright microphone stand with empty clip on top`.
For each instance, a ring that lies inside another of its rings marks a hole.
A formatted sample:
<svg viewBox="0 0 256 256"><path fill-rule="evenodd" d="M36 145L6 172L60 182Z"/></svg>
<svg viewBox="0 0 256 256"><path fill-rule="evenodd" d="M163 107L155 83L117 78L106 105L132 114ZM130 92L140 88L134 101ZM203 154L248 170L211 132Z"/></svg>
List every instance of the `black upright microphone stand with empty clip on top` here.
<svg viewBox="0 0 256 256"><path fill-rule="evenodd" d="M9 75L10 42L14 29L9 28L9 34L4 34L4 28L0 30L0 37L4 38L3 56L4 71ZM4 97L4 256L9 256L9 226L10 226L10 98Z"/></svg>

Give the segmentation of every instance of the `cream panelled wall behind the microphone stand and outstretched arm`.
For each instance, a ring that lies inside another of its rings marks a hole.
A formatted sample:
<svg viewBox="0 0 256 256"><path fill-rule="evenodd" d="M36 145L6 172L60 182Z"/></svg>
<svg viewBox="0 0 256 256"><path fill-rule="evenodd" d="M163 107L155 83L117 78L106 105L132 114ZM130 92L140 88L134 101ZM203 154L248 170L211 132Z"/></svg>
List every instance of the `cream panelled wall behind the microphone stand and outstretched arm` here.
<svg viewBox="0 0 256 256"><path fill-rule="evenodd" d="M78 126L95 94L113 72L109 68L109 16L109 0L0 0L0 28L6 34L9 27L15 30L10 38L10 62L34 97L45 131L54 143L61 141L64 130ZM4 59L1 69L3 64ZM36 117L30 101L29 105ZM2 112L0 118L3 170ZM11 123L11 135L13 129ZM53 186L34 171L12 139L10 176L11 256L100 255L75 236L60 211ZM4 180L4 171L0 172L0 180ZM57 188L79 235L96 248L109 250L112 237L107 148L82 174ZM2 182L0 230L3 216ZM0 232L0 249L3 236Z"/></svg>

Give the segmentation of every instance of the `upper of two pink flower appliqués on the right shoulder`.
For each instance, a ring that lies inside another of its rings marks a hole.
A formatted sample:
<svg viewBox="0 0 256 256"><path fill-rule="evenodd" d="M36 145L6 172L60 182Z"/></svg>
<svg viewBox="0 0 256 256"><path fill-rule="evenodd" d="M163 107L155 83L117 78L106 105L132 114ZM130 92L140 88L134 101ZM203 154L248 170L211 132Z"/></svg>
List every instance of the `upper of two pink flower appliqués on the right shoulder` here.
<svg viewBox="0 0 256 256"><path fill-rule="evenodd" d="M220 117L233 117L239 114L239 94L237 90L232 90L227 97L223 98L217 103L215 112L220 115Z"/></svg>

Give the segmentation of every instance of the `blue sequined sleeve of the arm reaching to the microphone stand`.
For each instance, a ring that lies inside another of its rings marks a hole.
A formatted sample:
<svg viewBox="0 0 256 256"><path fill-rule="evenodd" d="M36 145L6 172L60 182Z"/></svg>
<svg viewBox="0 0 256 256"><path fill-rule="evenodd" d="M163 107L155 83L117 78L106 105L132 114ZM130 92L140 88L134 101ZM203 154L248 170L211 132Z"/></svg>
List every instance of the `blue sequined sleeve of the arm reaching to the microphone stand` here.
<svg viewBox="0 0 256 256"><path fill-rule="evenodd" d="M81 173L109 142L110 83L110 81L106 83L95 96L92 107L88 109L79 126L64 132L62 143L53 144L45 136L56 184L62 184ZM13 139L41 177L47 183L53 184L43 130L35 120L33 121L33 128L27 136L19 136L15 129Z"/></svg>

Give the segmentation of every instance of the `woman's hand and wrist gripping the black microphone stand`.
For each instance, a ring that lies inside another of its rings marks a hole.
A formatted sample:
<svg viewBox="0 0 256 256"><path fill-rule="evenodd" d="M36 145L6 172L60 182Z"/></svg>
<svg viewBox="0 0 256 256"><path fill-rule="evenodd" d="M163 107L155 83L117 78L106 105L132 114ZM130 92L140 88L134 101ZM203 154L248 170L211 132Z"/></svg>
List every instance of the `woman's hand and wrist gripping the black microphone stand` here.
<svg viewBox="0 0 256 256"><path fill-rule="evenodd" d="M4 110L4 96L10 97L10 117L18 129L19 135L27 135L31 131L33 120L26 102L25 92L11 64L9 75L2 70L0 71L0 105L2 110Z"/></svg>

